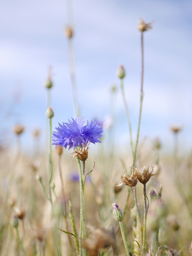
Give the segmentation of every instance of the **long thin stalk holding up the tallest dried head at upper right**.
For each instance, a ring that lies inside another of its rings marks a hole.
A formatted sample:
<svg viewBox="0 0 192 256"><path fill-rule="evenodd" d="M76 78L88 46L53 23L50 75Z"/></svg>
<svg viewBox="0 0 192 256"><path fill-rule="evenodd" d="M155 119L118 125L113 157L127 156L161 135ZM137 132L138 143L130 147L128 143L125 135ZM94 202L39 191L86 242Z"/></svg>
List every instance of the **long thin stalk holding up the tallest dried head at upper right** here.
<svg viewBox="0 0 192 256"><path fill-rule="evenodd" d="M139 121L138 121L138 129L137 129L137 138L134 150L134 160L133 166L136 161L136 154L139 142L139 133L140 133L140 124L141 124L141 114L142 114L142 105L143 105L143 80L144 80L144 47L143 47L143 33L141 32L141 90L140 90L140 110L139 110Z"/></svg>

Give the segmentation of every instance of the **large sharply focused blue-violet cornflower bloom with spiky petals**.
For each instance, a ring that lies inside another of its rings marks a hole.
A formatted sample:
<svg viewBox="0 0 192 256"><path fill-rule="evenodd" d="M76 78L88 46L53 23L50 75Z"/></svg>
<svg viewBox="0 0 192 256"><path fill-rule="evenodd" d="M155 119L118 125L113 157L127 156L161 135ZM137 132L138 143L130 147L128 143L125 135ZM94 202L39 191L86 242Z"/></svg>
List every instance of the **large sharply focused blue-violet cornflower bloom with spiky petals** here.
<svg viewBox="0 0 192 256"><path fill-rule="evenodd" d="M92 120L90 123L84 125L83 118L79 120L77 117L75 120L69 120L69 123L59 123L59 127L56 127L56 132L52 132L52 144L60 145L60 147L75 148L76 146L86 145L88 142L96 143L100 142L99 138L102 136L102 127Z"/></svg>

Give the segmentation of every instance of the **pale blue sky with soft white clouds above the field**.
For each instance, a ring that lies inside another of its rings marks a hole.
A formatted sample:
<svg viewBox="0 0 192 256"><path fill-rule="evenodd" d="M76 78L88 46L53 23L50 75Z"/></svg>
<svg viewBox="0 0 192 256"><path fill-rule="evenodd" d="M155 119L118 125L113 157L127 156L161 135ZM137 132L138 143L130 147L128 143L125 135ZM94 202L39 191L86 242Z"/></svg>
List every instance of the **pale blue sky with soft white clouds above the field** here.
<svg viewBox="0 0 192 256"><path fill-rule="evenodd" d="M34 128L46 124L44 80L52 67L53 128L74 117L64 27L74 28L76 86L80 115L110 116L110 88L119 147L129 144L126 113L116 77L126 70L124 88L134 139L140 102L141 49L138 21L153 22L144 33L144 101L140 138L160 138L171 149L170 126L182 127L181 149L192 146L192 1L190 0L7 0L0 4L0 118L2 143L15 142L12 125L23 124L23 146ZM105 132L105 131L104 131ZM106 131L107 132L107 131Z"/></svg>

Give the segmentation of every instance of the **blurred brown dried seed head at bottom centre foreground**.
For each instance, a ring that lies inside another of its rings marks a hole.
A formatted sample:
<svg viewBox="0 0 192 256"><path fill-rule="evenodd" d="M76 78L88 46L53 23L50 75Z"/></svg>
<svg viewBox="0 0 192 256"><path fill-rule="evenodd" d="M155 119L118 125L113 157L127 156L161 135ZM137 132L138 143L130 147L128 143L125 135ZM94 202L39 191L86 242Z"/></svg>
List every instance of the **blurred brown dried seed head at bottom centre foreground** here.
<svg viewBox="0 0 192 256"><path fill-rule="evenodd" d="M89 256L98 256L98 251L101 248L112 246L116 250L116 241L114 234L103 228L93 229L90 238L82 242L82 247L85 248Z"/></svg>

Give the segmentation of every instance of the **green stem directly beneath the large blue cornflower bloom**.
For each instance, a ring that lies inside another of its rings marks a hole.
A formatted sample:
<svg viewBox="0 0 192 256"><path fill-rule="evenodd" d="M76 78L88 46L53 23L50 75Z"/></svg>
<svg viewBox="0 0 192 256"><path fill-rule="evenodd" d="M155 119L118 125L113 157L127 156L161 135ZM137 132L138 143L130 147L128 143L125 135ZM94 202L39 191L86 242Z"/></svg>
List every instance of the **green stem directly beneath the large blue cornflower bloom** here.
<svg viewBox="0 0 192 256"><path fill-rule="evenodd" d="M79 251L80 256L84 255L84 250L82 248L82 240L85 239L85 220L84 220L84 184L85 184L85 163L83 162L83 171L81 169L80 159L77 157L77 164L79 170L79 182L80 182L80 243Z"/></svg>

